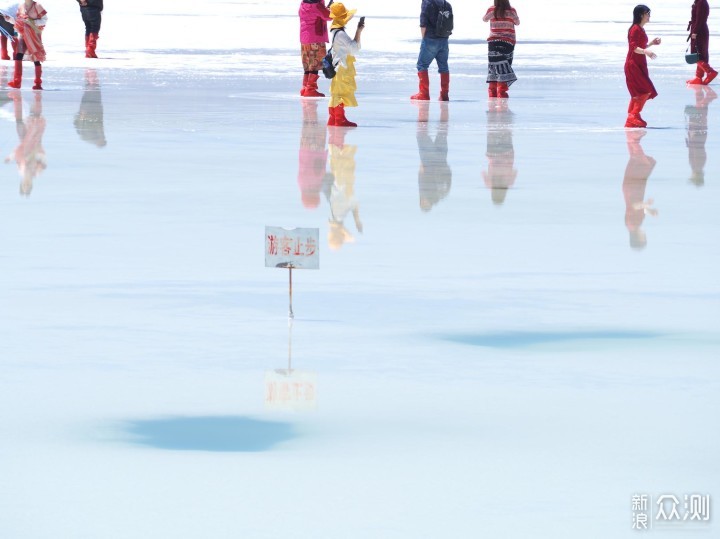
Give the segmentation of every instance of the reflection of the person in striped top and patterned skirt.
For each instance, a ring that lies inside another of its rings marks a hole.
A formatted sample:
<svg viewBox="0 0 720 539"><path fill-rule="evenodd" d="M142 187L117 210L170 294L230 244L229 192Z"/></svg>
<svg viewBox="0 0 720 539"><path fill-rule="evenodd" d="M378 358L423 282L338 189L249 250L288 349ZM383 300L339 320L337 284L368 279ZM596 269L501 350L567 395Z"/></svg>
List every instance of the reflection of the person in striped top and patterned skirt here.
<svg viewBox="0 0 720 539"><path fill-rule="evenodd" d="M512 116L507 99L492 99L487 115L487 171L485 186L490 189L493 204L505 202L508 189L515 183L515 148L512 139Z"/></svg>

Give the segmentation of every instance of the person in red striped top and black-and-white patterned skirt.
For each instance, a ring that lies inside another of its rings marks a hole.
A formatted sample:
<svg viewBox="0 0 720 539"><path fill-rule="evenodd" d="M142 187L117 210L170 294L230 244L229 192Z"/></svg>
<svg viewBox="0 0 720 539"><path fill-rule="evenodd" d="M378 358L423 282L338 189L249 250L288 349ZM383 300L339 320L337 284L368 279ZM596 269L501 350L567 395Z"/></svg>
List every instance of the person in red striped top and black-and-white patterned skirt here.
<svg viewBox="0 0 720 539"><path fill-rule="evenodd" d="M488 96L508 97L508 88L517 80L512 68L515 27L520 24L510 0L495 0L483 21L490 23L488 37Z"/></svg>

